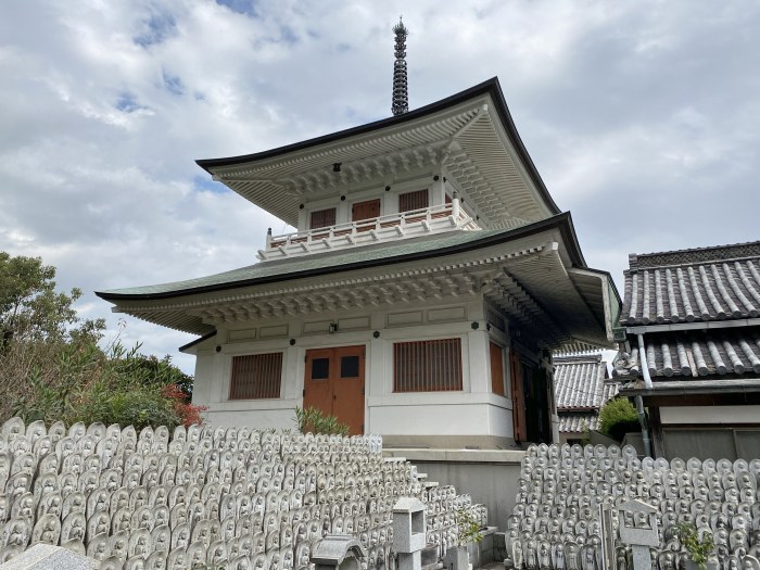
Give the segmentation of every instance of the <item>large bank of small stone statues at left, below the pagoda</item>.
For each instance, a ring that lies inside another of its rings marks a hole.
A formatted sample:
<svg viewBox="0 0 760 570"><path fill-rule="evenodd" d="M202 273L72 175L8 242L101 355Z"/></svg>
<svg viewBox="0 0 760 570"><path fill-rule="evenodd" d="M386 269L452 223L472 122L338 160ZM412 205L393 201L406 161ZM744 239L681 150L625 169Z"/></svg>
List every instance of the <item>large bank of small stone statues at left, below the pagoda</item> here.
<svg viewBox="0 0 760 570"><path fill-rule="evenodd" d="M440 555L456 542L456 510L485 523L468 495L426 485L408 461L381 451L375 435L46 429L13 418L0 430L0 560L39 542L102 568L306 570L320 539L349 533L373 569L389 563L400 496L426 505Z"/></svg>

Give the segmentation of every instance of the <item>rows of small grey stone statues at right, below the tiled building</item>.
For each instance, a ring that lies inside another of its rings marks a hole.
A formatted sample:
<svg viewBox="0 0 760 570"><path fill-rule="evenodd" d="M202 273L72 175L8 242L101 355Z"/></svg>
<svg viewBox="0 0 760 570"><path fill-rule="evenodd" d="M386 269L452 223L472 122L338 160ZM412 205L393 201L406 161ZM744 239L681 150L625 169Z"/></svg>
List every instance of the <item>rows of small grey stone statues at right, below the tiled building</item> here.
<svg viewBox="0 0 760 570"><path fill-rule="evenodd" d="M607 509L617 566L624 570L630 552L618 529L648 525L634 514L620 520L618 507L635 498L655 509L660 544L651 550L654 567L674 570L685 556L679 523L694 524L700 537L712 535L723 570L745 560L751 566L760 558L759 476L760 459L639 460L631 446L532 445L507 520L509 561L517 568L599 570L600 509Z"/></svg>

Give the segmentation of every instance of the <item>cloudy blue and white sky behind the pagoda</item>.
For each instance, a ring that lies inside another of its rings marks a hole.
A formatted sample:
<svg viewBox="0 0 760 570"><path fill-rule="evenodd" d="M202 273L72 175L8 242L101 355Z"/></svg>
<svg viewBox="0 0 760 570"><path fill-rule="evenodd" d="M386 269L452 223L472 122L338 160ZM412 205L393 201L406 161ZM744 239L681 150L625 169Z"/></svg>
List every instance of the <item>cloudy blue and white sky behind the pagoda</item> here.
<svg viewBox="0 0 760 570"><path fill-rule="evenodd" d="M756 1L7 0L0 250L41 256L84 317L93 290L255 261L281 221L195 159L390 116L393 36L410 106L498 76L588 265L760 239ZM127 318L170 354L193 337Z"/></svg>

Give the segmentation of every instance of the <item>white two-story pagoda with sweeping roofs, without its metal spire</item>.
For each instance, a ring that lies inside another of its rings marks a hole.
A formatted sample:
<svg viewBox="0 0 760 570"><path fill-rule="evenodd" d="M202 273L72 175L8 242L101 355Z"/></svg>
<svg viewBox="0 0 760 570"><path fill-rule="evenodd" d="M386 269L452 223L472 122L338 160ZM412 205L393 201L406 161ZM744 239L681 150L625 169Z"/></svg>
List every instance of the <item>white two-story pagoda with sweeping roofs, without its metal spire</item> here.
<svg viewBox="0 0 760 570"><path fill-rule="evenodd" d="M550 354L610 345L619 296L583 259L497 79L266 152L199 161L297 231L258 263L98 293L202 335L193 403L292 428L296 406L390 445L557 439Z"/></svg>

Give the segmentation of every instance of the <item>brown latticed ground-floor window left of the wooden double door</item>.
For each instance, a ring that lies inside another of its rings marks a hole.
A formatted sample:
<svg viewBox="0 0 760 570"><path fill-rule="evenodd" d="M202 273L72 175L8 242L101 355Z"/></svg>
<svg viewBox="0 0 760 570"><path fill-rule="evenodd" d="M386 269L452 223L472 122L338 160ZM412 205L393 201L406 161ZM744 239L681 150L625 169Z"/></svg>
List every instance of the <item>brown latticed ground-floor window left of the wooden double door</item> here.
<svg viewBox="0 0 760 570"><path fill-rule="evenodd" d="M230 400L280 397L282 353L232 357Z"/></svg>

